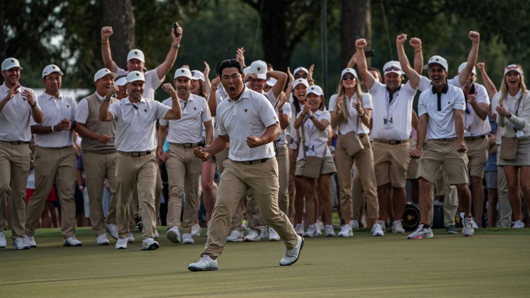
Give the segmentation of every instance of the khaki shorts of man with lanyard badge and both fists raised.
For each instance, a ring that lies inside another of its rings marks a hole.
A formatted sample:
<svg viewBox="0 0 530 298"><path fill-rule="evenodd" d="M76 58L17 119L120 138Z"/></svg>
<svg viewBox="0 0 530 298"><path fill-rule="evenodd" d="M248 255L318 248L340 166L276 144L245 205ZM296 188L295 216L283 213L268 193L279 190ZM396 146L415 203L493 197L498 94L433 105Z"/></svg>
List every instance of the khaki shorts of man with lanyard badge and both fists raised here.
<svg viewBox="0 0 530 298"><path fill-rule="evenodd" d="M409 143L391 145L374 141L372 151L377 186L392 183L393 187L405 187L410 161Z"/></svg>

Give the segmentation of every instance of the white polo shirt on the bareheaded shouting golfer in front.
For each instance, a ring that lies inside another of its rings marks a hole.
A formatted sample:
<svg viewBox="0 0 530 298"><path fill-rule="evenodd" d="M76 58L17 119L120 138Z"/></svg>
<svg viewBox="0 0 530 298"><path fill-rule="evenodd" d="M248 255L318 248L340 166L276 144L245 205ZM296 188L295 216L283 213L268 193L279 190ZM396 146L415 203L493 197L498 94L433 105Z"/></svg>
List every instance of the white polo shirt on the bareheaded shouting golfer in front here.
<svg viewBox="0 0 530 298"><path fill-rule="evenodd" d="M272 143L250 148L246 138L251 135L261 137L267 127L278 123L276 112L266 97L246 86L244 88L239 100L233 101L228 97L217 106L219 135L230 138L228 158L251 161L273 157Z"/></svg>

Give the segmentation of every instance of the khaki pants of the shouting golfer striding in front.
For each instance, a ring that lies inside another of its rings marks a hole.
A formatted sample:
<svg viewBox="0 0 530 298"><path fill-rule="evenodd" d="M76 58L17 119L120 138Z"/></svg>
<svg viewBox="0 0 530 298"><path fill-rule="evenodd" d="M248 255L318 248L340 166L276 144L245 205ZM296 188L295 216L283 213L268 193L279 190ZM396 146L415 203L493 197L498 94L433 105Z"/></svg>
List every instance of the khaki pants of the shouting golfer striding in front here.
<svg viewBox="0 0 530 298"><path fill-rule="evenodd" d="M298 236L287 215L278 207L279 183L276 159L273 157L267 162L251 165L225 160L223 165L225 169L211 215L208 239L201 254L215 259L223 253L231 218L241 197L249 189L258 203L264 220L278 232L280 238L284 240L285 247L293 249Z"/></svg>

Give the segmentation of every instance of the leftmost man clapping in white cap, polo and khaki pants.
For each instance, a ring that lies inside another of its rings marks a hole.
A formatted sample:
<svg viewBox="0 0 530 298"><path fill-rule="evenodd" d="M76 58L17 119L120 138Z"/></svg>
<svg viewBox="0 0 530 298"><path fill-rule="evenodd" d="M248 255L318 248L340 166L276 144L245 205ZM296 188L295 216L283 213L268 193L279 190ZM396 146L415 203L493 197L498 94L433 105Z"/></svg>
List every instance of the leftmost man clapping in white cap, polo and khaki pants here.
<svg viewBox="0 0 530 298"><path fill-rule="evenodd" d="M4 84L0 86L0 248L5 248L7 197L11 189L10 227L13 249L29 249L24 243L26 184L30 171L30 124L41 124L37 94L19 83L19 60L2 62Z"/></svg>

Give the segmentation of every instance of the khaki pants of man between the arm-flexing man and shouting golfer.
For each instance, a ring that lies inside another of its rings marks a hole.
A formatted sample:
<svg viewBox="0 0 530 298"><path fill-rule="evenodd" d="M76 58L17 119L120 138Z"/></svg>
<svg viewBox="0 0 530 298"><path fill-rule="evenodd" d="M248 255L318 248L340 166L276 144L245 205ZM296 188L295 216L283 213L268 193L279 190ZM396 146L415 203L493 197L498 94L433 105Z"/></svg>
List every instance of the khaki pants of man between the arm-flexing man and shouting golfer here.
<svg viewBox="0 0 530 298"><path fill-rule="evenodd" d="M167 227L180 226L182 194L185 196L182 231L191 233L191 226L199 211L199 176L201 160L193 154L195 148L182 148L170 144L167 157L167 178L169 179L169 200L167 203Z"/></svg>

